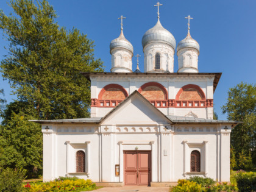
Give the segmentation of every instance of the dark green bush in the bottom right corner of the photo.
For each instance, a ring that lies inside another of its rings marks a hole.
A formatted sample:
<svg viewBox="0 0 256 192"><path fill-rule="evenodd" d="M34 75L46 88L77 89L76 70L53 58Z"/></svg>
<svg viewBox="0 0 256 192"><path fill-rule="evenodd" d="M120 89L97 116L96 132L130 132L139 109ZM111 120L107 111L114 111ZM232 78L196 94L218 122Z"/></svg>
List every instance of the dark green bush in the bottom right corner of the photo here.
<svg viewBox="0 0 256 192"><path fill-rule="evenodd" d="M254 172L236 171L235 179L239 191L256 191L256 174Z"/></svg>

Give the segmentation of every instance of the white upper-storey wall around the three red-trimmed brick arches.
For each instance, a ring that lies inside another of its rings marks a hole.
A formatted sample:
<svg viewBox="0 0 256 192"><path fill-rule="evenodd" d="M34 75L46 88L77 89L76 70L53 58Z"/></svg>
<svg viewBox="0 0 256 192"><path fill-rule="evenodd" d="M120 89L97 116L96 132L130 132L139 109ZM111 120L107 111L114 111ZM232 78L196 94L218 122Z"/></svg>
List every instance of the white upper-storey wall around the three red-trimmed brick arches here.
<svg viewBox="0 0 256 192"><path fill-rule="evenodd" d="M101 79L100 77L98 77ZM102 88L104 88L108 84L118 84L125 88L128 94L131 94L133 91L138 90L142 85L146 84L147 82L157 82L163 87L166 87L168 91L168 99L176 99L176 95L179 92L180 88L188 84L194 84L201 87L202 91L204 91L205 99L213 99L213 77L202 77L202 78L194 78L191 79L190 77L181 78L177 77L174 79L170 79L169 81L157 79L155 77L147 77L146 79L141 79L140 77L115 77L113 79L110 77L108 80L98 80L97 83L95 82L96 79L92 78L92 86L91 87L91 98L98 98L99 93L101 92ZM206 82L205 82L206 81ZM94 116L105 116L112 107L91 107L91 117ZM196 113L198 118L213 118L213 109L210 108L158 108L161 112L165 115L177 115L177 116L185 116L190 111Z"/></svg>

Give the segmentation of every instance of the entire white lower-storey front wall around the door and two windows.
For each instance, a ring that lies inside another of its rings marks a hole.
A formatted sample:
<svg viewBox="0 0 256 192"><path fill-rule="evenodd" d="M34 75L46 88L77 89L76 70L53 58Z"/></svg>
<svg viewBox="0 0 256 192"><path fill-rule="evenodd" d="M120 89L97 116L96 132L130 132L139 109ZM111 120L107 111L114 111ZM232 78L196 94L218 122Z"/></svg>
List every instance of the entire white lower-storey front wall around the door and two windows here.
<svg viewBox="0 0 256 192"><path fill-rule="evenodd" d="M49 130L44 129L46 126ZM231 127L227 124L225 130L225 126L187 124L169 129L168 124L154 121L139 125L112 123L102 124L99 133L96 124L47 124L43 126L43 180L77 176L94 182L124 182L123 151L146 150L151 151L152 182L173 182L190 176L229 182ZM76 173L79 150L85 152L86 173ZM193 150L201 153L201 172L190 172ZM119 176L115 176L115 165L120 165Z"/></svg>

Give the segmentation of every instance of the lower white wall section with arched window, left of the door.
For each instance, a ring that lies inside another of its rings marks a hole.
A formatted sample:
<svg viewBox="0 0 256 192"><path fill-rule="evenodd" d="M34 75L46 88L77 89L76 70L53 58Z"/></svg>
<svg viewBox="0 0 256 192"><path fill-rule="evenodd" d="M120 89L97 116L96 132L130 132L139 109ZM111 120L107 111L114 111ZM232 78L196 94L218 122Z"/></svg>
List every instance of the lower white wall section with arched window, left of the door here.
<svg viewBox="0 0 256 192"><path fill-rule="evenodd" d="M99 152L99 137L94 132L98 132L97 126L77 124L54 125L48 131L43 129L43 180L53 180L59 176L77 176L81 179L99 181L99 174L96 171L99 168L99 157L91 155L88 150L96 149L96 154ZM77 174L76 152L80 150L85 152L86 173Z"/></svg>

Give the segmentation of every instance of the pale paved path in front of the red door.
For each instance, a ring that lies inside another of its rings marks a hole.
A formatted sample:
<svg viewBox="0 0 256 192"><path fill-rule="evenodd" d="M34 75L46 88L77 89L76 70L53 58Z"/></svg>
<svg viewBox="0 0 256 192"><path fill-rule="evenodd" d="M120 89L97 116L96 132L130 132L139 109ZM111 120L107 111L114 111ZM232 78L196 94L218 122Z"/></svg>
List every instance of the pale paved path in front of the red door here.
<svg viewBox="0 0 256 192"><path fill-rule="evenodd" d="M144 186L124 186L124 187L104 187L95 191L101 192L150 192L150 191L158 191L158 192L168 192L169 187L144 187Z"/></svg>

